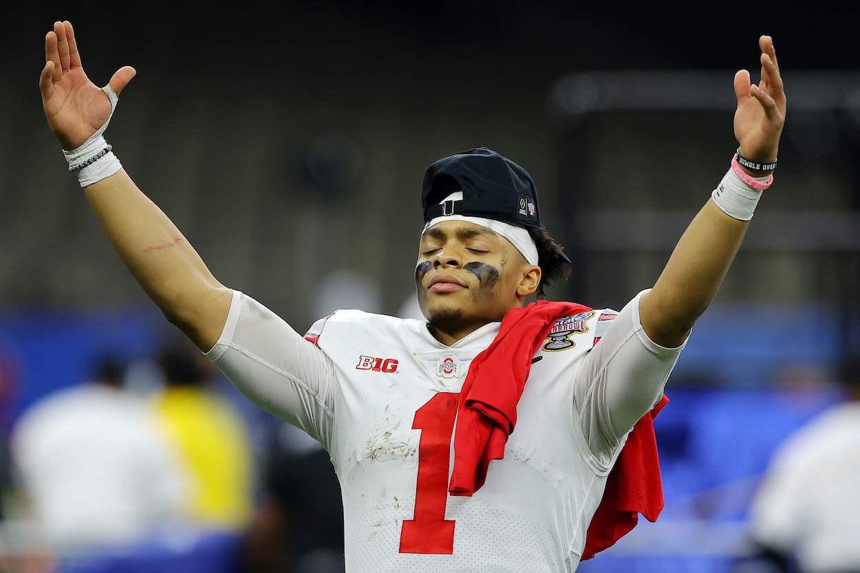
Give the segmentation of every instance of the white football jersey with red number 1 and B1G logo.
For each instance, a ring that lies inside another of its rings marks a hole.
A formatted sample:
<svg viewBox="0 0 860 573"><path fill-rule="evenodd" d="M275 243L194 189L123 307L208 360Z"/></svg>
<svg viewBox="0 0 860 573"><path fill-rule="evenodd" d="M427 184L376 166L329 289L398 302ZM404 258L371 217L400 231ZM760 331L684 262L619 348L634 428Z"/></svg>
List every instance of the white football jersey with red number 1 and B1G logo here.
<svg viewBox="0 0 860 573"><path fill-rule="evenodd" d="M534 355L505 457L469 497L448 495L459 391L499 323L447 347L425 321L337 311L311 327L311 343L234 293L208 355L329 451L350 573L573 571L626 434L679 354L648 340L637 309L638 298L617 318L587 311L556 322Z"/></svg>

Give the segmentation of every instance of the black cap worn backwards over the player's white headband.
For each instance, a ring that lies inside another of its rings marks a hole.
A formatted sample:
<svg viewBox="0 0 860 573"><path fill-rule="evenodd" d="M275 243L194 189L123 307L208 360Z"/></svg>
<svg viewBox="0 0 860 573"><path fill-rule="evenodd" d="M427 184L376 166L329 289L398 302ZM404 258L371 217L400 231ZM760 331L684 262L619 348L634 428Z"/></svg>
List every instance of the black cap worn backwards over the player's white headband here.
<svg viewBox="0 0 860 573"><path fill-rule="evenodd" d="M463 191L463 200L445 200L455 190ZM537 189L528 171L486 147L442 157L428 167L421 184L421 207L425 224L457 214L520 227L541 226Z"/></svg>

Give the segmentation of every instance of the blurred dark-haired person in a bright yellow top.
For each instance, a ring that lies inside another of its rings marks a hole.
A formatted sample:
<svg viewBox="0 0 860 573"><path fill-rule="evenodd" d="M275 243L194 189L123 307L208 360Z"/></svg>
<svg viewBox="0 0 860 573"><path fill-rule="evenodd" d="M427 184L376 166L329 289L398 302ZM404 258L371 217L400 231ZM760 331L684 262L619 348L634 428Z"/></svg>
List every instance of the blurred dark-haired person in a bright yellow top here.
<svg viewBox="0 0 860 573"><path fill-rule="evenodd" d="M158 355L158 420L187 471L187 508L200 527L238 531L252 513L254 459L243 417L212 390L212 364L176 339ZM217 372L217 371L216 371Z"/></svg>

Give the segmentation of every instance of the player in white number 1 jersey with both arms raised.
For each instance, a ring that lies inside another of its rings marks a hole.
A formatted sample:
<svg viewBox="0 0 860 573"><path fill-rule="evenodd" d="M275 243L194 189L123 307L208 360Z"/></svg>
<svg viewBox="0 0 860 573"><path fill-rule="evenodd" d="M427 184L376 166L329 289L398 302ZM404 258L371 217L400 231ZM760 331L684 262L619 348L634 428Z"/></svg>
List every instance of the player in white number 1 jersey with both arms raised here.
<svg viewBox="0 0 860 573"><path fill-rule="evenodd" d="M101 136L135 71L97 88L70 22L55 22L45 48L48 124L123 262L246 396L331 454L347 570L570 572L638 513L656 519L651 419L776 167L786 102L769 36L760 83L734 77L731 168L653 288L620 312L524 306L569 261L540 224L531 176L481 148L425 175L414 272L427 321L339 311L304 338L218 282ZM296 280L303 256L286 254ZM365 263L390 273L388 261Z"/></svg>

